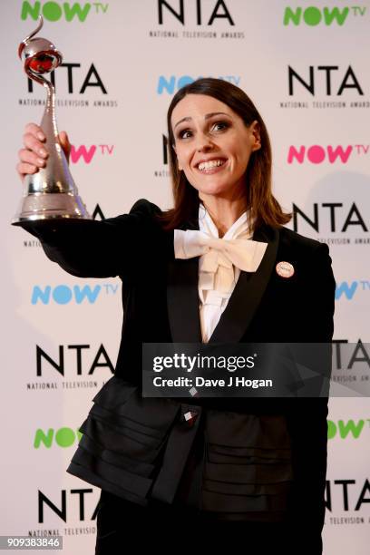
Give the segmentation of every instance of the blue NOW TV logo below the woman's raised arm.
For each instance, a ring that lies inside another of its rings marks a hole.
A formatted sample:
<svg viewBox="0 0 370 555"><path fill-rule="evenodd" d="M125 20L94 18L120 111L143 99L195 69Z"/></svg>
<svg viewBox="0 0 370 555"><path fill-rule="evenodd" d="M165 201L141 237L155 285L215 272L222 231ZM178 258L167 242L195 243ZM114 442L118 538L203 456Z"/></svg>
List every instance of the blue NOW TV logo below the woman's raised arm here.
<svg viewBox="0 0 370 555"><path fill-rule="evenodd" d="M37 305L39 303L48 305L52 301L57 305L68 305L76 303L77 305L91 304L96 302L98 297L103 295L115 295L118 290L118 285L112 283L104 283L102 285L84 285L69 287L67 285L58 285L52 287L34 286L31 295L31 304Z"/></svg>

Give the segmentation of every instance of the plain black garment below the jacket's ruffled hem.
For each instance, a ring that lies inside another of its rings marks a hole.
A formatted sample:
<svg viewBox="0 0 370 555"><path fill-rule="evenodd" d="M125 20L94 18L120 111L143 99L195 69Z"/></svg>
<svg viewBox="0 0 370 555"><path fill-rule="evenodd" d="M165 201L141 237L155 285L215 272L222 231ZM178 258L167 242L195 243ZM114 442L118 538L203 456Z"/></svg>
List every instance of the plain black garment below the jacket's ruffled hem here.
<svg viewBox="0 0 370 555"><path fill-rule="evenodd" d="M217 521L216 521L217 520ZM287 522L219 521L217 513L190 511L180 504L151 501L146 507L102 491L97 513L95 555L125 555L128 550L247 555L319 555L321 538L297 533Z"/></svg>

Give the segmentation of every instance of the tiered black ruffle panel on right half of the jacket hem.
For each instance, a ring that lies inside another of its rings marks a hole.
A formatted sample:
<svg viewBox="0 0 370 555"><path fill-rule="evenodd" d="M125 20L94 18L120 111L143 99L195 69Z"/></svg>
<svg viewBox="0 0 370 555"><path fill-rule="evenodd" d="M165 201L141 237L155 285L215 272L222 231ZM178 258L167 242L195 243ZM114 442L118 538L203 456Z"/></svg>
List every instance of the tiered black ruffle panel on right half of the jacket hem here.
<svg viewBox="0 0 370 555"><path fill-rule="evenodd" d="M282 516L293 481L285 417L208 411L205 433L203 511Z"/></svg>

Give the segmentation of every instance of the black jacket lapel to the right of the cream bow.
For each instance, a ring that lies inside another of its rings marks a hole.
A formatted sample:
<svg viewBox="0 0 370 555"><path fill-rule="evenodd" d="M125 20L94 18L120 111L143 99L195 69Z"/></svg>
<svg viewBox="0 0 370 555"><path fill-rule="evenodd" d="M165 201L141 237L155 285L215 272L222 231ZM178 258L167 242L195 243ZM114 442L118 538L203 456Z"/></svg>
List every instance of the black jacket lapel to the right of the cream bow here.
<svg viewBox="0 0 370 555"><path fill-rule="evenodd" d="M239 343L255 315L277 259L279 233L277 229L258 229L253 239L268 242L265 256L257 272L240 272L228 306L219 318L209 343Z"/></svg>

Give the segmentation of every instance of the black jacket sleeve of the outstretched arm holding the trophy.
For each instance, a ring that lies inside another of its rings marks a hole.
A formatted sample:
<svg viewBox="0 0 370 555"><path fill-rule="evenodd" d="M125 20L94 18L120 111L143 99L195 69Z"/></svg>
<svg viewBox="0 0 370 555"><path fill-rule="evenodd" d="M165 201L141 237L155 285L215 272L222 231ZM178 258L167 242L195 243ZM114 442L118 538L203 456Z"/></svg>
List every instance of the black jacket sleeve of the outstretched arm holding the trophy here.
<svg viewBox="0 0 370 555"><path fill-rule="evenodd" d="M104 220L34 222L26 230L40 239L50 260L77 277L114 277L134 271L159 247L161 209L149 200L135 202L128 214Z"/></svg>

